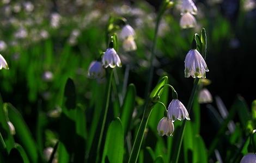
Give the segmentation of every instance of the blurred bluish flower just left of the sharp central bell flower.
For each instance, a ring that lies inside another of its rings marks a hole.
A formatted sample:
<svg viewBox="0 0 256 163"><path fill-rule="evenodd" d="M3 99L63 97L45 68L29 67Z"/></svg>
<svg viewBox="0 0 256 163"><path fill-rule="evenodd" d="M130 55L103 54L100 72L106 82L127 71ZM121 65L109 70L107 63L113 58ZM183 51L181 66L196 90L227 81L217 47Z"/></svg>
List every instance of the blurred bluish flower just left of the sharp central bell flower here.
<svg viewBox="0 0 256 163"><path fill-rule="evenodd" d="M102 79L105 77L105 69L102 67L101 62L99 61L92 61L89 66L88 70L88 77L93 79Z"/></svg>

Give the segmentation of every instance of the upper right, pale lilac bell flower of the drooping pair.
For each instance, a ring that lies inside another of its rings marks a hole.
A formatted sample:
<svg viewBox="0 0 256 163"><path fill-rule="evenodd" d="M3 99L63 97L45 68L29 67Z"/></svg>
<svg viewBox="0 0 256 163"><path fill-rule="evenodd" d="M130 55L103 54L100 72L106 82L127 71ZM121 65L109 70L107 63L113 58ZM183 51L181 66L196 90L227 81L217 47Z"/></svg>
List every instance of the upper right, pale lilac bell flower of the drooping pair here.
<svg viewBox="0 0 256 163"><path fill-rule="evenodd" d="M190 116L188 115L187 109L185 106L179 101L179 99L173 99L168 106L168 118L172 121L176 120L190 120Z"/></svg>

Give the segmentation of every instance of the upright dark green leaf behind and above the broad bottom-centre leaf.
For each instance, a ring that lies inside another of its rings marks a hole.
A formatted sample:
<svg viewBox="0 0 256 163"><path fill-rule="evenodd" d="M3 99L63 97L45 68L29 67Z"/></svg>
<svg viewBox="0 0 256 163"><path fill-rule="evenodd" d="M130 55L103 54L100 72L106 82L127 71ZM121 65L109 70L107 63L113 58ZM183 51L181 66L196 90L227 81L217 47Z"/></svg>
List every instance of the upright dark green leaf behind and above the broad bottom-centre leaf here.
<svg viewBox="0 0 256 163"><path fill-rule="evenodd" d="M126 135L131 124L132 113L135 108L136 88L134 84L130 84L127 88L127 92L124 98L124 104L122 106L121 121L124 128L124 135Z"/></svg>

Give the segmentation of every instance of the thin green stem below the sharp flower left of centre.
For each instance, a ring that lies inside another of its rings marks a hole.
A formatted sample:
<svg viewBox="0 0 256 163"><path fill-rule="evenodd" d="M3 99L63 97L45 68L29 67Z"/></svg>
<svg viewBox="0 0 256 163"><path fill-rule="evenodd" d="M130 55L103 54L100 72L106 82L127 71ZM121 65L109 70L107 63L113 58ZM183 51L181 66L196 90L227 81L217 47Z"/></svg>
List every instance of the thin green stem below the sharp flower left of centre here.
<svg viewBox="0 0 256 163"><path fill-rule="evenodd" d="M107 119L107 111L108 111L109 98L110 98L110 93L111 93L112 78L113 78L113 70L111 70L111 74L110 74L109 81L108 81L107 101L106 101L105 113L104 113L104 117L103 117L101 131L100 131L100 138L99 138L99 142L98 142L98 145L97 145L96 162L99 162L100 146L101 146L101 140L102 140L103 131L104 131L105 123L106 123L106 119Z"/></svg>

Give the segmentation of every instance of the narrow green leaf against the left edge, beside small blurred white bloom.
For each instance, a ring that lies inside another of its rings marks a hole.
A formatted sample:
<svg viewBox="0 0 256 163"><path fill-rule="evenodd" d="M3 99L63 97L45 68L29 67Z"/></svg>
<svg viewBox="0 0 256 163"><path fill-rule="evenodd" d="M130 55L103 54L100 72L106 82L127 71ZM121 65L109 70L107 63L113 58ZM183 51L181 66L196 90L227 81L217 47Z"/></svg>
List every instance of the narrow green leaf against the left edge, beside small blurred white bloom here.
<svg viewBox="0 0 256 163"><path fill-rule="evenodd" d="M7 152L9 153L11 148L14 147L14 138L10 133L10 129L7 123L8 117L5 117L5 115L7 114L5 114L3 104L0 102L0 132L4 141L2 146L3 148L6 148Z"/></svg>

